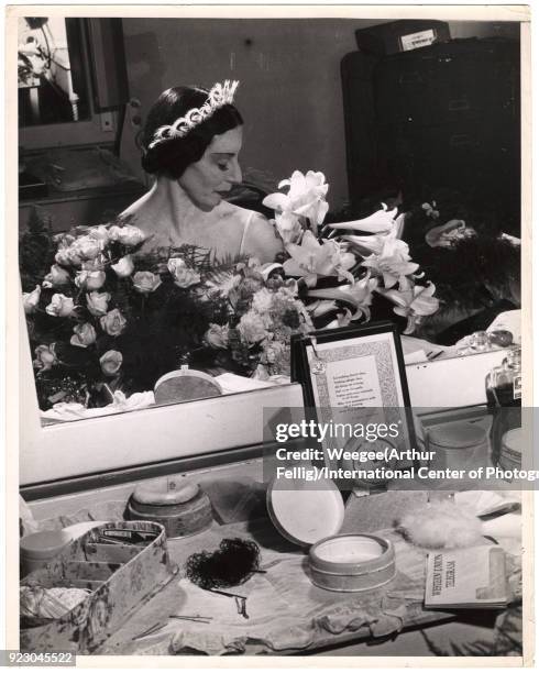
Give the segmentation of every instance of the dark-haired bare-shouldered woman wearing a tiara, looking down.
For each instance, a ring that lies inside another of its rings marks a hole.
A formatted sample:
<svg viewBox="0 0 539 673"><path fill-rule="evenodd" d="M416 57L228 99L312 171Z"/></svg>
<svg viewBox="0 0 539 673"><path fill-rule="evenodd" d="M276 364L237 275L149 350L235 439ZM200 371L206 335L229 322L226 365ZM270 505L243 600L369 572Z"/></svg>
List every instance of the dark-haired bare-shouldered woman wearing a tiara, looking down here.
<svg viewBox="0 0 539 673"><path fill-rule="evenodd" d="M238 84L167 89L150 110L142 166L155 181L122 213L151 236L146 247L187 243L213 251L218 260L246 255L261 263L280 252L262 214L226 201L242 179L243 120L232 104Z"/></svg>

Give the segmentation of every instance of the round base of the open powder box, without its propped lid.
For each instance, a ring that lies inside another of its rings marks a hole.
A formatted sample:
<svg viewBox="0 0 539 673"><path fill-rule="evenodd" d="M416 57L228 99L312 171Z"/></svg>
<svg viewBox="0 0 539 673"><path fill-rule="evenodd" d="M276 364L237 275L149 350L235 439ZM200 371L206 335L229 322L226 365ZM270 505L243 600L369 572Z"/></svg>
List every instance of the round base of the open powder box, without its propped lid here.
<svg viewBox="0 0 539 673"><path fill-rule="evenodd" d="M395 550L378 536L331 536L310 548L309 571L316 586L332 592L375 589L395 577Z"/></svg>

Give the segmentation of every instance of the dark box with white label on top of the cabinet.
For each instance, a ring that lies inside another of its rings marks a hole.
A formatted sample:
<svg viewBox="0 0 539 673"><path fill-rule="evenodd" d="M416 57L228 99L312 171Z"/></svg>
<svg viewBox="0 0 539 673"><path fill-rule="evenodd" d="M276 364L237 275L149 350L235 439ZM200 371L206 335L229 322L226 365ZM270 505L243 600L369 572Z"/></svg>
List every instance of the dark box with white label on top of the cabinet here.
<svg viewBox="0 0 539 673"><path fill-rule="evenodd" d="M392 21L355 31L362 52L387 56L451 40L446 21Z"/></svg>

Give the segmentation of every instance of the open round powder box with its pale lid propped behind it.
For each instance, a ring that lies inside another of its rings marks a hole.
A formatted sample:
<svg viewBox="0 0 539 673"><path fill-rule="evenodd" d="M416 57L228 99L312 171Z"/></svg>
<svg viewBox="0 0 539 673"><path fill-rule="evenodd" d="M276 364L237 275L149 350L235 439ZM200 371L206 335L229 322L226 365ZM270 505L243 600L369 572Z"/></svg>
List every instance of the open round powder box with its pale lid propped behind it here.
<svg viewBox="0 0 539 673"><path fill-rule="evenodd" d="M393 543L380 536L339 534L344 501L329 479L274 478L267 509L276 529L290 542L308 548L309 576L316 586L333 592L378 588L396 575Z"/></svg>

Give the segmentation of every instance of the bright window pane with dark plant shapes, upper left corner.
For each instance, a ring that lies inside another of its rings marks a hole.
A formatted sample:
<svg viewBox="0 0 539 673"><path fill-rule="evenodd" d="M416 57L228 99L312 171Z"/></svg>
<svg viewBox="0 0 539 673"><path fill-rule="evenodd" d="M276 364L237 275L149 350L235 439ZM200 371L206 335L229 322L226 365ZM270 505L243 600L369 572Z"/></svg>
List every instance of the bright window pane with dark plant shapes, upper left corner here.
<svg viewBox="0 0 539 673"><path fill-rule="evenodd" d="M89 119L80 21L24 16L18 27L19 126Z"/></svg>

